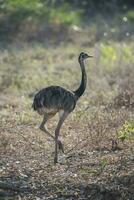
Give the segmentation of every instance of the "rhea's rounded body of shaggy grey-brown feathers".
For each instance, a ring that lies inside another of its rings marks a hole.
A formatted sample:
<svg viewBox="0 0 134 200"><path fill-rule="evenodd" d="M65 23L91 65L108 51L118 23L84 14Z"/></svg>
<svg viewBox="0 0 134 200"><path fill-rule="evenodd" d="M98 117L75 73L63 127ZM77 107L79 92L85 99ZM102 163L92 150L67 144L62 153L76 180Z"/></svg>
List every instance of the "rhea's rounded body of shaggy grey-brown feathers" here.
<svg viewBox="0 0 134 200"><path fill-rule="evenodd" d="M76 105L73 92L60 86L50 86L40 90L34 98L33 108L40 115L56 114L60 110L71 112Z"/></svg>

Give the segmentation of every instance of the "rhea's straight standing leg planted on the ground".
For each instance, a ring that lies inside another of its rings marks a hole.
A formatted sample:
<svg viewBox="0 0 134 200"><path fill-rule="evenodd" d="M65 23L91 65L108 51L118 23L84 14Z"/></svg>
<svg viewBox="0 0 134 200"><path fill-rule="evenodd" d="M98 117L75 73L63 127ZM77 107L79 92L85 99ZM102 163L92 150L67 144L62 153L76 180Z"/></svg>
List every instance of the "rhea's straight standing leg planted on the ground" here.
<svg viewBox="0 0 134 200"><path fill-rule="evenodd" d="M67 116L68 116L68 112L63 112L62 115L60 115L60 119L59 119L58 125L55 130L55 157L54 157L55 164L58 162L58 145L59 145L59 149L61 149L62 152L64 153L63 145L62 145L61 141L58 140L58 137L60 134L60 128Z"/></svg>

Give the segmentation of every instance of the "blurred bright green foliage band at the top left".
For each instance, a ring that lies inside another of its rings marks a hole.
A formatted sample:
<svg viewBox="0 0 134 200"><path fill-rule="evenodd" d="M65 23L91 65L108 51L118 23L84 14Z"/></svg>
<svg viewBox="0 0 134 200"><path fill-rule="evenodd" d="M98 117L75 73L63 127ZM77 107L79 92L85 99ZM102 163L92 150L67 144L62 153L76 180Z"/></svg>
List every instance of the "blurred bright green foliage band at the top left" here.
<svg viewBox="0 0 134 200"><path fill-rule="evenodd" d="M0 10L10 15L10 21L21 22L25 19L55 24L77 24L80 20L80 11L73 11L69 4L64 3L59 7L48 6L41 0L7 0L0 5Z"/></svg>

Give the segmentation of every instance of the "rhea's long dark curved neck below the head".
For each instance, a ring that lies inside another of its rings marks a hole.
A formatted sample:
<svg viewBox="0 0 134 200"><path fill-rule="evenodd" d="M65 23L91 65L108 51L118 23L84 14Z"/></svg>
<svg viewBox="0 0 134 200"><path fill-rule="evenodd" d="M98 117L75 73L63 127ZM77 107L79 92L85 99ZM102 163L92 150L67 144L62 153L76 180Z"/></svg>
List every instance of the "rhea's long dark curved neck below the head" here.
<svg viewBox="0 0 134 200"><path fill-rule="evenodd" d="M79 88L74 91L74 94L77 99L82 96L82 94L84 93L84 91L86 89L86 85L87 85L87 75L86 75L86 71L85 71L84 61L79 60L79 64L81 67L82 78L81 78L81 83L80 83Z"/></svg>

